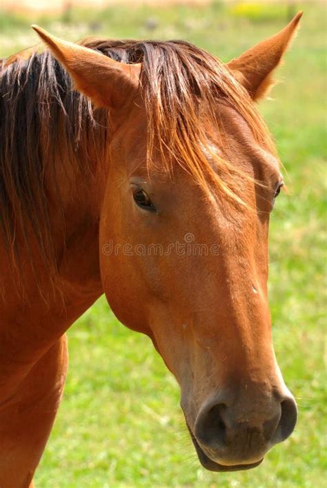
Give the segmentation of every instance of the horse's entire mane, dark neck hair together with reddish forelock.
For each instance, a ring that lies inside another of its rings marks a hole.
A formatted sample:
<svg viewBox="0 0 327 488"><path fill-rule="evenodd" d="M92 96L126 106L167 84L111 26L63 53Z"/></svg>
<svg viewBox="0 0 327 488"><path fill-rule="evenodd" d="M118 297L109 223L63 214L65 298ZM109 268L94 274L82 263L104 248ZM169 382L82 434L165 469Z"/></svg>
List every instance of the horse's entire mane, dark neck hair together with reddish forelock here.
<svg viewBox="0 0 327 488"><path fill-rule="evenodd" d="M82 45L123 63L143 63L140 88L148 117L148 164L159 149L162 169L177 162L201 185L208 175L233 196L221 174L235 171L212 154L200 118L215 120L217 99L246 119L255 139L273 150L266 125L224 63L184 41L115 41L85 39ZM61 127L59 130L59 119ZM14 56L0 68L0 233L14 255L17 228L29 248L32 231L44 263L56 272L50 226L50 202L44 183L53 173L60 144L82 175L92 171L88 152L93 141L99 152L108 141L108 114L95 109L72 90L66 70L50 52L33 52L28 59ZM200 147L208 148L218 171ZM63 212L60 189L57 207ZM235 195L234 195L235 196ZM235 197L237 198L237 197Z"/></svg>

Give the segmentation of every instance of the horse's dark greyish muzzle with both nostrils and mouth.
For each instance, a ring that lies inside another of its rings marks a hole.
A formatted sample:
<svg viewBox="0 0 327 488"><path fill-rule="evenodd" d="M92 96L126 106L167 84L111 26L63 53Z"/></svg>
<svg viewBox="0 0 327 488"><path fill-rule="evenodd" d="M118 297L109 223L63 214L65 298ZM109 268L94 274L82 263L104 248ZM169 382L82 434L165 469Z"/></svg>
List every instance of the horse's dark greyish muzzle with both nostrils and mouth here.
<svg viewBox="0 0 327 488"><path fill-rule="evenodd" d="M257 467L273 445L292 434L297 406L289 392L270 398L212 396L195 419L190 435L201 464L210 471Z"/></svg>

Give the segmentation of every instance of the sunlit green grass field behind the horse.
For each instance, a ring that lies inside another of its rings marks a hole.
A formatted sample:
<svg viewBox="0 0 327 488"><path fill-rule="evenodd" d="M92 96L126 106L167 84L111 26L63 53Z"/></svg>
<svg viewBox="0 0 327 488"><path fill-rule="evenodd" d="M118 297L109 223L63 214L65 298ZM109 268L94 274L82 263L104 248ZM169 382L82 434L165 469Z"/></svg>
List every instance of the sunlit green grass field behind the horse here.
<svg viewBox="0 0 327 488"><path fill-rule="evenodd" d="M212 474L202 469L174 378L150 340L119 324L101 299L68 332L66 392L37 487L326 486L326 8L313 2L297 6L304 17L277 75L283 83L275 87L273 101L261 103L289 190L272 217L269 284L275 350L299 405L293 436L255 470ZM187 39L228 61L277 32L288 13L285 3L243 8L216 2L205 8L120 6L72 12L70 19L3 14L0 54L36 43L29 28L34 21L73 41L90 34Z"/></svg>

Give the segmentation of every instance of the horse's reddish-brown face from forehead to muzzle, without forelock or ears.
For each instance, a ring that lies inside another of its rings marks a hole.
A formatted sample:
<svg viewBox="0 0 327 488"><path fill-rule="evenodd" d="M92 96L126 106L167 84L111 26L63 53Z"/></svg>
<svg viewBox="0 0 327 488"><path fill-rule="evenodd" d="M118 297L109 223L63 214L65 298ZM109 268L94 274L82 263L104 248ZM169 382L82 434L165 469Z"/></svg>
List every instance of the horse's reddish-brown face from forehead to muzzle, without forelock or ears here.
<svg viewBox="0 0 327 488"><path fill-rule="evenodd" d="M238 194L257 210L220 188L205 192L178 167L172 180L148 174L139 112L112 142L100 241L110 306L152 338L181 387L202 464L226 471L257 465L290 435L297 414L275 360L267 298L279 164L234 110L221 105L219 114L228 144L212 145L248 174L239 176Z"/></svg>

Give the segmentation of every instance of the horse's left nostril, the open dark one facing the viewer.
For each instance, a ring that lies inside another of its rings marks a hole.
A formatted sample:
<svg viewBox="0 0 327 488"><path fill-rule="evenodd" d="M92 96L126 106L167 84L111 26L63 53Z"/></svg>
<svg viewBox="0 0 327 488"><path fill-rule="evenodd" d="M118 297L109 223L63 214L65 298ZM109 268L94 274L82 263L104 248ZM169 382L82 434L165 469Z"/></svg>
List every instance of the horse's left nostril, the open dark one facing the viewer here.
<svg viewBox="0 0 327 488"><path fill-rule="evenodd" d="M195 436L200 443L211 448L226 445L226 425L222 418L225 409L226 405L220 403L201 412L195 424Z"/></svg>

